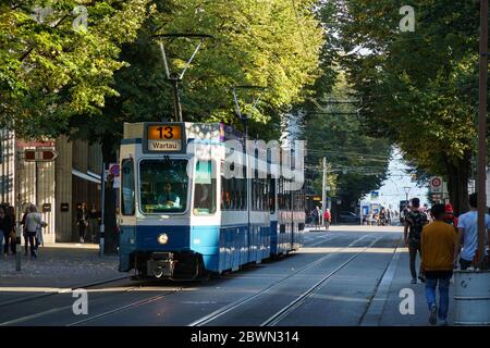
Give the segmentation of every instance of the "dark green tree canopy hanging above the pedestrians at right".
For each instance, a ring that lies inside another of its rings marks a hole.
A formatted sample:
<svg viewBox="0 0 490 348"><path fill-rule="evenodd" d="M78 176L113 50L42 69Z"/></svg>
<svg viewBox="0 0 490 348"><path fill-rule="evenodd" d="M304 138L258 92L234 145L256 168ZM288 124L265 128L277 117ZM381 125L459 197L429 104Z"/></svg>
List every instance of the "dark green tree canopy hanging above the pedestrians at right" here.
<svg viewBox="0 0 490 348"><path fill-rule="evenodd" d="M364 100L371 135L449 181L456 212L467 207L478 96L477 1L418 0L415 32L401 32L402 1L339 1L342 66Z"/></svg>

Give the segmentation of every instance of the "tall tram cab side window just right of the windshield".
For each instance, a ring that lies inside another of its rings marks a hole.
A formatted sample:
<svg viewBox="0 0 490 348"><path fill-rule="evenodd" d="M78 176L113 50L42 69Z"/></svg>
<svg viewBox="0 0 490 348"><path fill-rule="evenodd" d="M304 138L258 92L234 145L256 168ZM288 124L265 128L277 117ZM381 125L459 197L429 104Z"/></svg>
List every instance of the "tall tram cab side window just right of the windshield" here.
<svg viewBox="0 0 490 348"><path fill-rule="evenodd" d="M209 215L216 212L216 177L212 161L197 161L194 186L194 214Z"/></svg>

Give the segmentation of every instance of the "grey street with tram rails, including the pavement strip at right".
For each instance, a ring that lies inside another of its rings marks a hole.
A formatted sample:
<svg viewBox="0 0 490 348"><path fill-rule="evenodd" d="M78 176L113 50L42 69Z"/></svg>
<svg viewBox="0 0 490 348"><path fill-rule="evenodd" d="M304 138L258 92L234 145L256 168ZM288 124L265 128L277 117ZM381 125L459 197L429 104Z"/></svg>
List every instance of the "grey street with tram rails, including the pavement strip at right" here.
<svg viewBox="0 0 490 348"><path fill-rule="evenodd" d="M88 289L88 314L71 291L8 306L0 325L427 325L421 284L411 285L400 227L307 232L305 247L208 282L132 282ZM402 315L400 289L416 294Z"/></svg>

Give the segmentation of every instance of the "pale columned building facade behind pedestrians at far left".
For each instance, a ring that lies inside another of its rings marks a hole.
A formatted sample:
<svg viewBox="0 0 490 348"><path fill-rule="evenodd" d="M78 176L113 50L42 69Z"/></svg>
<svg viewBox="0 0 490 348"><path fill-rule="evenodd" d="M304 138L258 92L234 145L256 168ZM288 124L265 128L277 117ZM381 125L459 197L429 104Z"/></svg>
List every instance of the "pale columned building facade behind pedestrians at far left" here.
<svg viewBox="0 0 490 348"><path fill-rule="evenodd" d="M28 162L22 156L26 149L53 149L58 157L52 162ZM21 202L22 209L35 204L48 223L45 243L76 241L77 203L100 211L100 146L66 137L24 141L0 129L0 153L1 201L15 208Z"/></svg>

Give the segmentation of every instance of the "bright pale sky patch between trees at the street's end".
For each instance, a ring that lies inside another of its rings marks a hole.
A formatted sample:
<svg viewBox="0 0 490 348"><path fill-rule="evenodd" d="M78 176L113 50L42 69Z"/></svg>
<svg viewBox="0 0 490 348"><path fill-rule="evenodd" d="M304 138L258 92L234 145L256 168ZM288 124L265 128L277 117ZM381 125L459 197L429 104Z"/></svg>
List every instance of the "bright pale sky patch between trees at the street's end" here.
<svg viewBox="0 0 490 348"><path fill-rule="evenodd" d="M388 178L382 183L382 186L377 191L379 197L372 202L381 203L384 207L392 206L393 209L399 209L400 201L405 200L404 187L409 187L408 199L418 197L420 204L428 203L427 187L417 187L416 183L412 181L411 174L406 173L409 166L403 160L400 150L394 149L388 166ZM369 202L370 195L364 197L363 201Z"/></svg>

